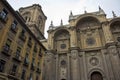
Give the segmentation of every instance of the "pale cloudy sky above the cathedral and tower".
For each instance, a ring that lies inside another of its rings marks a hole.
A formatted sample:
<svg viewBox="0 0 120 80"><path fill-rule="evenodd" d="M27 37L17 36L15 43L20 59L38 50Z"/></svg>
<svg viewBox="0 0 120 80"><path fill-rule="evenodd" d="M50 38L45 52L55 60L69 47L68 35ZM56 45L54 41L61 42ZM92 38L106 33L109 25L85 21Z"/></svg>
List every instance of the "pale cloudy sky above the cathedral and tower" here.
<svg viewBox="0 0 120 80"><path fill-rule="evenodd" d="M83 14L86 10L89 12L98 11L98 6L105 11L107 17L112 17L112 11L120 16L120 0L7 0L15 10L20 7L40 4L44 14L47 16L45 25L45 37L51 21L54 26L60 25L61 19L63 24L68 24L69 14Z"/></svg>

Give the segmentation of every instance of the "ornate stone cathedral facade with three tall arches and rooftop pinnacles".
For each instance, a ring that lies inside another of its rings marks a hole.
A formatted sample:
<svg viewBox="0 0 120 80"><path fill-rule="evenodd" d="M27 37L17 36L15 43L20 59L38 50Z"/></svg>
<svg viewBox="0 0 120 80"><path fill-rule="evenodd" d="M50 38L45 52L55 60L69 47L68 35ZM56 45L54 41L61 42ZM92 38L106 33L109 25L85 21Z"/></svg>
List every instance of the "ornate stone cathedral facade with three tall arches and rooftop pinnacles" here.
<svg viewBox="0 0 120 80"><path fill-rule="evenodd" d="M43 80L120 80L120 17L103 9L69 15L48 30Z"/></svg>

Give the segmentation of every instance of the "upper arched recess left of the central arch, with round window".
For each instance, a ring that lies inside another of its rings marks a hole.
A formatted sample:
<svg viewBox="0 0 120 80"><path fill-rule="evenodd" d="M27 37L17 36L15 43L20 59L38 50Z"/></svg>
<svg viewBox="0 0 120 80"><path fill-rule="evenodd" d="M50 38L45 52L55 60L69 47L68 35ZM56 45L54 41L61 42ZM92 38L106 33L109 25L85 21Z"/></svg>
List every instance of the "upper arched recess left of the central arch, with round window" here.
<svg viewBox="0 0 120 80"><path fill-rule="evenodd" d="M57 51L68 50L70 47L70 33L66 29L59 29L54 33L54 49Z"/></svg>

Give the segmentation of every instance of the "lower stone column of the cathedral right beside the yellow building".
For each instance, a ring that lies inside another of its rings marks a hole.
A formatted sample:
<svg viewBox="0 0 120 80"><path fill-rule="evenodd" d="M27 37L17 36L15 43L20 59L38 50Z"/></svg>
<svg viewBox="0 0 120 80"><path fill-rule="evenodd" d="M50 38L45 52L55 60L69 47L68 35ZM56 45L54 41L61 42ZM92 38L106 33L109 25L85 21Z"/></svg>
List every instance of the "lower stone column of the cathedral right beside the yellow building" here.
<svg viewBox="0 0 120 80"><path fill-rule="evenodd" d="M45 56L45 80L55 79L55 57L52 51L48 51Z"/></svg>

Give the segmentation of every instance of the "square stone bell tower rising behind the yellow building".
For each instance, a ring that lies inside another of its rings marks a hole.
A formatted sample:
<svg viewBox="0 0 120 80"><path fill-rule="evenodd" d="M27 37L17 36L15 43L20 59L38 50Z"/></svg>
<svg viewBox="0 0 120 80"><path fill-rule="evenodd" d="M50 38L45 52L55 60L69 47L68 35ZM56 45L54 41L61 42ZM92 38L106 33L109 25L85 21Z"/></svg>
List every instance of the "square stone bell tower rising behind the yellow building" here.
<svg viewBox="0 0 120 80"><path fill-rule="evenodd" d="M39 4L33 4L32 6L21 7L19 13L22 15L25 23L34 35L39 39L44 39L44 29L47 17L42 11L42 7Z"/></svg>

